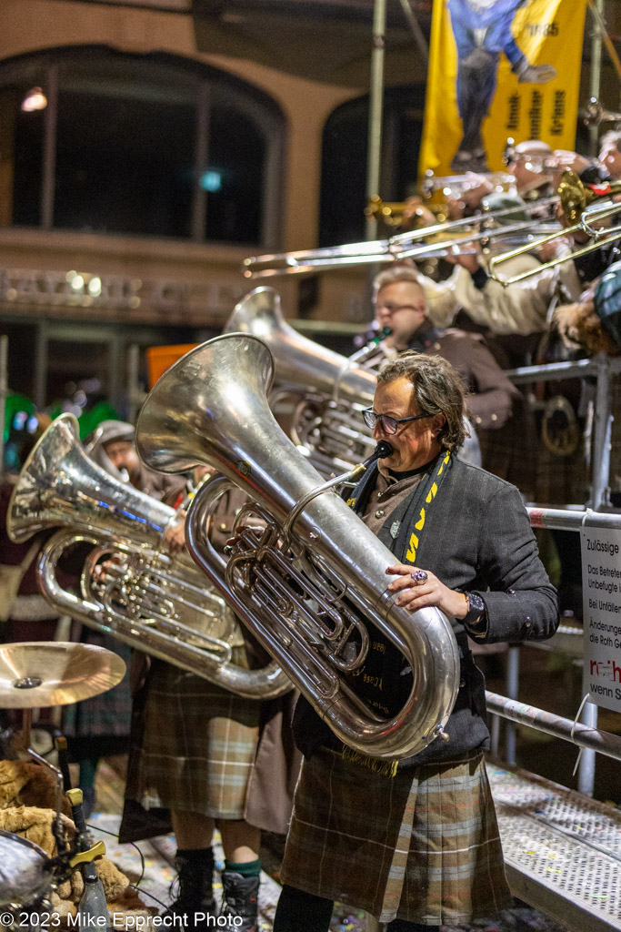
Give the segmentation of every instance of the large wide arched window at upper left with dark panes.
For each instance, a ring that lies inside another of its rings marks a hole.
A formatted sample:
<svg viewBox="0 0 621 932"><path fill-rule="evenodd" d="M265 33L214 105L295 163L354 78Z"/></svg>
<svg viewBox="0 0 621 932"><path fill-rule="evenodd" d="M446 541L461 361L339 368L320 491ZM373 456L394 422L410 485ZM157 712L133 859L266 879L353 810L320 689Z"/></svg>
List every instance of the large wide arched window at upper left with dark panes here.
<svg viewBox="0 0 621 932"><path fill-rule="evenodd" d="M47 106L24 110L35 87ZM0 64L0 126L4 226L277 245L285 120L232 75L48 50Z"/></svg>

